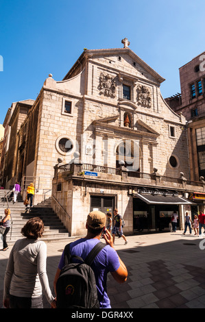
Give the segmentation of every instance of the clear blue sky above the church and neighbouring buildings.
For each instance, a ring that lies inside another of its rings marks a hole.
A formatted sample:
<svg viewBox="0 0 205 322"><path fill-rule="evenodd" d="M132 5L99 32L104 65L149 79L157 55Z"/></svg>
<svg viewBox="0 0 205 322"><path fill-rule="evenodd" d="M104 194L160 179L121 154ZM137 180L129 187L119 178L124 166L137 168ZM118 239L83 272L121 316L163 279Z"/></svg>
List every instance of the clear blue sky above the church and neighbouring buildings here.
<svg viewBox="0 0 205 322"><path fill-rule="evenodd" d="M180 92L180 66L205 51L204 0L0 0L0 124L14 101L36 99L87 49L130 49ZM1 66L0 66L1 67Z"/></svg>

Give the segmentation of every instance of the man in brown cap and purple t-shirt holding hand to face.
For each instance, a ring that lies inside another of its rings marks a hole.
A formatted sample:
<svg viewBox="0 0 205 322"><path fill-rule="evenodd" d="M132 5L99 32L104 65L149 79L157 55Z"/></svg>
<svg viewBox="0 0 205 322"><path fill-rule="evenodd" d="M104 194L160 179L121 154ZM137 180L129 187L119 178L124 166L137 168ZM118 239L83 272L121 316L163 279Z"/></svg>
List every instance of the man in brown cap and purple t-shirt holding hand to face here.
<svg viewBox="0 0 205 322"><path fill-rule="evenodd" d="M106 229L106 214L99 211L90 212L86 221L86 229L86 237L75 240L75 242L70 244L71 256L80 256L83 260L85 260L91 249L93 249L93 247L99 243L101 234ZM125 264L123 264L117 255L117 251L114 249L112 236L108 230L106 230L106 233L104 233L104 239L106 240L106 247L101 249L91 267L95 273L99 307L111 308L110 299L106 289L107 274L110 272L112 277L114 277L114 280L119 283L123 283L127 280L128 271L125 267ZM62 253L54 280L55 292L56 283L63 267L64 253Z"/></svg>

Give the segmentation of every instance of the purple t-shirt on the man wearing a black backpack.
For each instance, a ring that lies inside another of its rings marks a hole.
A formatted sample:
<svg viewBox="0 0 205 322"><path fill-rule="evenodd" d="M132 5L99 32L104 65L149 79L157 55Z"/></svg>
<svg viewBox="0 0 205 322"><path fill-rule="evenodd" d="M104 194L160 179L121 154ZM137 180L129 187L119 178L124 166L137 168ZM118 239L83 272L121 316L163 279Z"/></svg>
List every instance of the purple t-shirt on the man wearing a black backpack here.
<svg viewBox="0 0 205 322"><path fill-rule="evenodd" d="M81 238L76 240L75 242L70 244L70 251L71 255L80 256L83 260L86 259L86 256L90 251L99 243L99 239L97 238ZM95 273L95 280L97 286L97 295L99 299L99 307L102 306L103 301L103 308L111 308L110 306L110 299L107 294L106 288L106 280L108 272L115 272L119 269L119 257L117 255L117 251L115 251L109 245L106 245L104 249L98 253L97 257L95 258L93 264L91 265L94 273ZM62 269L64 267L64 252L60 258L60 263L58 265L58 269ZM104 287L105 286L105 287ZM105 288L105 292L104 292ZM104 294L104 296L103 296ZM103 299L104 297L104 299Z"/></svg>

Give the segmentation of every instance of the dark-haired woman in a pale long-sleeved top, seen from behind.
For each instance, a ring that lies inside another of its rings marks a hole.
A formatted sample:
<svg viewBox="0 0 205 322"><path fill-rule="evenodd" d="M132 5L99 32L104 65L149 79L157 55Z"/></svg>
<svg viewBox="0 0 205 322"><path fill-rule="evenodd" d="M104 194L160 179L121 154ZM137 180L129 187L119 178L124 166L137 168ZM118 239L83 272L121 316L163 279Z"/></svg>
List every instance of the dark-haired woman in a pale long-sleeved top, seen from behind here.
<svg viewBox="0 0 205 322"><path fill-rule="evenodd" d="M5 308L43 308L43 293L56 308L46 271L47 246L43 240L44 224L38 218L27 221L21 230L25 238L12 247L5 271L3 305Z"/></svg>

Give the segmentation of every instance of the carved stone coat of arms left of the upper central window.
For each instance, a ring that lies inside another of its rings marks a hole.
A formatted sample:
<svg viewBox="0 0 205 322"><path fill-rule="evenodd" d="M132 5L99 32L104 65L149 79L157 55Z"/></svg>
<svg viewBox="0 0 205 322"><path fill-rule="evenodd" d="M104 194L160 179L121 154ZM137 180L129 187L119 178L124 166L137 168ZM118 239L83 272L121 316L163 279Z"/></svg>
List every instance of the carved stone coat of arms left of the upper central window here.
<svg viewBox="0 0 205 322"><path fill-rule="evenodd" d="M99 76L99 94L103 94L108 97L115 97L115 82L114 77L109 74L101 73Z"/></svg>

